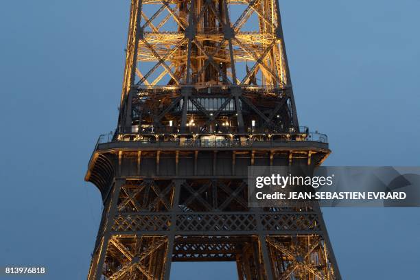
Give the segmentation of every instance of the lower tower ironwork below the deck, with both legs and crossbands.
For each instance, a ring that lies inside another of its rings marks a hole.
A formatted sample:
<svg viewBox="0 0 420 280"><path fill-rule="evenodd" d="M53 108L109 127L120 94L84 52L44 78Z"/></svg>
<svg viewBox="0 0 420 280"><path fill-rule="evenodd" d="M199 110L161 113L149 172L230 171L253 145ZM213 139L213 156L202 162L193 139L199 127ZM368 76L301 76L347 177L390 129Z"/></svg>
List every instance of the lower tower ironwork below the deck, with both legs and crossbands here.
<svg viewBox="0 0 420 280"><path fill-rule="evenodd" d="M248 209L245 198L240 179L115 181L89 279L169 279L172 261L236 261L240 279L340 279L316 205Z"/></svg>

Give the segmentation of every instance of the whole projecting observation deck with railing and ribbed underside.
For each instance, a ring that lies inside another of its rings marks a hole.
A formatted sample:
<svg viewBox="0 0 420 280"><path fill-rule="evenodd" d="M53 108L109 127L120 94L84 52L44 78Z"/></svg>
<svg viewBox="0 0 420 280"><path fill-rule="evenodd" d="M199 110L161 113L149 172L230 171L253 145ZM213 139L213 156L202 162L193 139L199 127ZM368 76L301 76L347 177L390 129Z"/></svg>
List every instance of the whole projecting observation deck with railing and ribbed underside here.
<svg viewBox="0 0 420 280"><path fill-rule="evenodd" d="M331 152L327 135L306 127L288 133L121 133L100 135L85 180L100 189L115 178L246 178L248 166L320 165ZM182 168L179 168L182 166Z"/></svg>

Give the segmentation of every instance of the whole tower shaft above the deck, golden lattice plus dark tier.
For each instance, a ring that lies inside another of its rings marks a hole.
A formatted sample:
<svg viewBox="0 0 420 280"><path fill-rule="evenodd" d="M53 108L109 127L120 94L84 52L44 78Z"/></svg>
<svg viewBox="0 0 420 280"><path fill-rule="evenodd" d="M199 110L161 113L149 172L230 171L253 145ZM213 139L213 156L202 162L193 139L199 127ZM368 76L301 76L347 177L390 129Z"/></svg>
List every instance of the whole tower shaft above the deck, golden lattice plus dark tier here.
<svg viewBox="0 0 420 280"><path fill-rule="evenodd" d="M118 132L221 126L299 130L277 0L132 0Z"/></svg>

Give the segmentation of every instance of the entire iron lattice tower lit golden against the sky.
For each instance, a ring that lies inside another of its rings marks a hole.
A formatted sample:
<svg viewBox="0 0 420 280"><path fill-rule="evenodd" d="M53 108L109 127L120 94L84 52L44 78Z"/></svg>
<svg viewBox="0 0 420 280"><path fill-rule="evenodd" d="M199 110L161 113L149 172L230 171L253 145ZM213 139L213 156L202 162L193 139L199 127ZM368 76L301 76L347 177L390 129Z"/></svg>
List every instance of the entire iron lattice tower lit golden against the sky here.
<svg viewBox="0 0 420 280"><path fill-rule="evenodd" d="M104 201L88 279L170 279L172 261L341 279L316 203L247 204L248 166L329 153L299 126L277 0L132 0L118 126L85 178Z"/></svg>

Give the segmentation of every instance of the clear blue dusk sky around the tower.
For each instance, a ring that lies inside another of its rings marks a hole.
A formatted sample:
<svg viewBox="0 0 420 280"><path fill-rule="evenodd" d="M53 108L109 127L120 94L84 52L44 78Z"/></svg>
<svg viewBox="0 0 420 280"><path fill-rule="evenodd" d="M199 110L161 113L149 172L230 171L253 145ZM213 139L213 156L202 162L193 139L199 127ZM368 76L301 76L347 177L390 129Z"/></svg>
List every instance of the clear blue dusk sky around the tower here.
<svg viewBox="0 0 420 280"><path fill-rule="evenodd" d="M325 165L420 165L420 1L281 0L302 125L329 136ZM128 0L0 5L0 266L84 279L102 201L84 183L113 130ZM324 209L344 279L417 279L420 209ZM172 279L232 279L231 264ZM183 276L181 276L183 275Z"/></svg>

